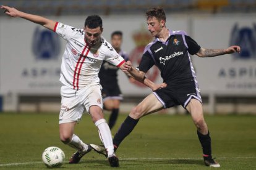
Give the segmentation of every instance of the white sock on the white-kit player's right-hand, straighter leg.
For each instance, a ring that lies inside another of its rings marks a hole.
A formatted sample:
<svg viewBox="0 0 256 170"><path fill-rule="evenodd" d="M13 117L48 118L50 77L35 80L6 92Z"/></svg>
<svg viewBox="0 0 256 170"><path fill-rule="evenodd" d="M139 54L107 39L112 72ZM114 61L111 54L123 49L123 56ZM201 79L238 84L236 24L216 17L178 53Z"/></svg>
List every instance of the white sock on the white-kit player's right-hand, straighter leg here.
<svg viewBox="0 0 256 170"><path fill-rule="evenodd" d="M113 156L114 145L108 123L106 123L105 119L99 119L95 122L95 126L98 127L100 139L108 152L108 157Z"/></svg>

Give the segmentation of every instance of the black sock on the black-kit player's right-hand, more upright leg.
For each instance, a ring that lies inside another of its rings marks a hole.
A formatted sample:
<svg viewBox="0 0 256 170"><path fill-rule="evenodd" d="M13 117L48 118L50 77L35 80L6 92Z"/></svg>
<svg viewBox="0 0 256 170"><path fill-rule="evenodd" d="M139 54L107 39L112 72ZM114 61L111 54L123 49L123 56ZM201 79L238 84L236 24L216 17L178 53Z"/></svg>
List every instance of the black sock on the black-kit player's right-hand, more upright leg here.
<svg viewBox="0 0 256 170"><path fill-rule="evenodd" d="M211 156L211 137L210 132L208 131L208 134L203 135L200 132L197 131L198 139L200 140L200 143L203 148L203 156Z"/></svg>

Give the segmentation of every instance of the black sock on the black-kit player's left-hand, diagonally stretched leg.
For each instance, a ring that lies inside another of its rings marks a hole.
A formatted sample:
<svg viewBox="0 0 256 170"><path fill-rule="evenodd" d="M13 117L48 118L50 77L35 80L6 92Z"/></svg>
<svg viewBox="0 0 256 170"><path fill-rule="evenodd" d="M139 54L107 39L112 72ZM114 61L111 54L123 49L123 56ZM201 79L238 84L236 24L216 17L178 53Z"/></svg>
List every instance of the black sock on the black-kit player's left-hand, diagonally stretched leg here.
<svg viewBox="0 0 256 170"><path fill-rule="evenodd" d="M121 127L114 136L113 144L115 151L117 150L119 144L121 144L122 140L124 140L124 138L128 136L130 132L132 132L138 121L139 119L133 119L130 116L127 116L124 123L122 123Z"/></svg>

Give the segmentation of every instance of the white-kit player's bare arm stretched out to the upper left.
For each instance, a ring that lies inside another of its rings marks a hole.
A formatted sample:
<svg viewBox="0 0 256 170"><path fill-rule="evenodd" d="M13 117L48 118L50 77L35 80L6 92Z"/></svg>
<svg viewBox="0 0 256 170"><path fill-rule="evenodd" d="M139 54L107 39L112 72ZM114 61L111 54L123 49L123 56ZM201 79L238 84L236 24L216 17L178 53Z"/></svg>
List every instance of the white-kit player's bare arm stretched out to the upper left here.
<svg viewBox="0 0 256 170"><path fill-rule="evenodd" d="M1 6L0 8L4 9L4 13L6 15L9 15L10 17L24 18L31 22L45 26L45 28L48 28L49 30L54 30L56 22L54 22L53 20L49 20L48 18L41 17L38 15L27 14L25 12L15 9L14 7Z"/></svg>

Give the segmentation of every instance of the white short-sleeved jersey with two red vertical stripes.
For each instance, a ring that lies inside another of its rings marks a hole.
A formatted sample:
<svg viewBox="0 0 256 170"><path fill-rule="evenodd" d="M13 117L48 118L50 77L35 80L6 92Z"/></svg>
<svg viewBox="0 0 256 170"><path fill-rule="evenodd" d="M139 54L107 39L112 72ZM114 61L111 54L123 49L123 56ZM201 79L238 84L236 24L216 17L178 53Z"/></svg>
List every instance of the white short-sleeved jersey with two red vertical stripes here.
<svg viewBox="0 0 256 170"><path fill-rule="evenodd" d="M83 29L57 22L54 32L67 41L62 57L60 78L64 86L80 89L88 84L100 83L98 73L103 60L117 67L124 63L121 55L117 54L103 37L101 37L101 46L92 49L85 42Z"/></svg>

